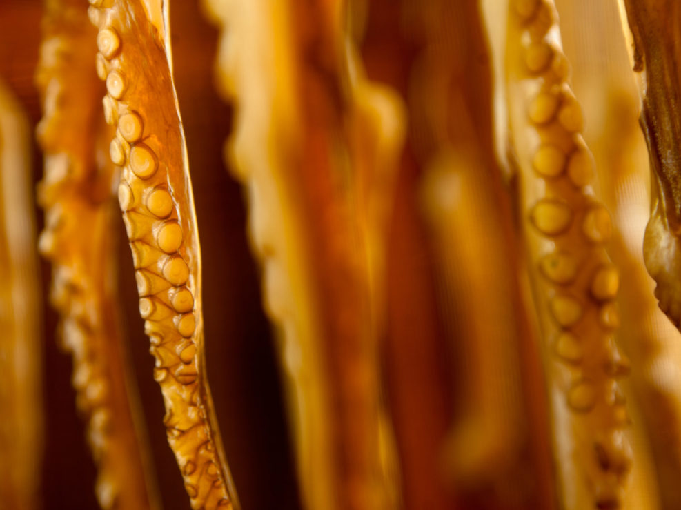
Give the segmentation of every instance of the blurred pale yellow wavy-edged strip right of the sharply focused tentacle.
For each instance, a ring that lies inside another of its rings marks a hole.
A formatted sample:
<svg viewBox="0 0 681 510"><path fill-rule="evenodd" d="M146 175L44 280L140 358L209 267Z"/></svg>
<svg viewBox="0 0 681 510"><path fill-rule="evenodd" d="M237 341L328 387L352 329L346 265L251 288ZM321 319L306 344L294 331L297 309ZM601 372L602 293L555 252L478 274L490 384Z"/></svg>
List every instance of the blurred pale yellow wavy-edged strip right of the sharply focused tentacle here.
<svg viewBox="0 0 681 510"><path fill-rule="evenodd" d="M328 427L328 380L322 370L317 310L295 221L295 202L283 179L295 126L287 2L206 1L221 30L217 57L219 89L239 99L233 138L226 145L228 166L246 187L250 243L262 265L265 311L282 339L289 414L292 415L298 478L310 508L333 508ZM255 59L254 59L255 57ZM267 79L268 70L277 79ZM239 90L248 91L241 97ZM315 460L316 459L316 460Z"/></svg>

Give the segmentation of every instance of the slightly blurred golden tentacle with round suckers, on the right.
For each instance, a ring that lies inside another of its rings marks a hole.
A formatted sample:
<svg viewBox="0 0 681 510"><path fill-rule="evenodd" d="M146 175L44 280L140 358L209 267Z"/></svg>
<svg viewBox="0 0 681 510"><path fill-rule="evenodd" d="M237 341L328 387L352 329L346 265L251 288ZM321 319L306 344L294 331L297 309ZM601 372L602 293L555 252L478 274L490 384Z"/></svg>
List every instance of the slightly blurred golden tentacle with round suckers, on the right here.
<svg viewBox="0 0 681 510"><path fill-rule="evenodd" d="M560 498L566 509L615 508L631 461L616 383L628 365L613 339L619 277L604 249L610 216L586 187L592 159L580 134L582 110L566 83L553 2L513 0L508 16L506 99Z"/></svg>

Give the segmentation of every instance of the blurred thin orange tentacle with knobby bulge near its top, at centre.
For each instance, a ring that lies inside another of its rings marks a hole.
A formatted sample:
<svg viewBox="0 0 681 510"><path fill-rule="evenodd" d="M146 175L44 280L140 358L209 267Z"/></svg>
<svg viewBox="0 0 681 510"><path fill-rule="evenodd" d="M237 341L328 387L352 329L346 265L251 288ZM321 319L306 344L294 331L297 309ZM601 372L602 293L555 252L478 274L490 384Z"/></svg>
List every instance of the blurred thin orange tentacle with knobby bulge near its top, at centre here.
<svg viewBox="0 0 681 510"><path fill-rule="evenodd" d="M399 154L404 143L406 111L395 90L371 81L359 54L358 45L366 21L364 0L348 2L346 27L346 79L351 90L351 106L346 124L348 148L353 160L356 221L362 232L366 249L366 279L370 314L370 349L367 365L380 373L380 339L387 332L386 314L386 258L388 256L388 221L395 198L395 178ZM345 377L353 377L347 373ZM399 460L395 444L393 420L388 411L385 388L379 387L377 397L378 463L380 484L384 493L383 506L397 508L402 500L399 482ZM373 453L375 455L375 453Z"/></svg>

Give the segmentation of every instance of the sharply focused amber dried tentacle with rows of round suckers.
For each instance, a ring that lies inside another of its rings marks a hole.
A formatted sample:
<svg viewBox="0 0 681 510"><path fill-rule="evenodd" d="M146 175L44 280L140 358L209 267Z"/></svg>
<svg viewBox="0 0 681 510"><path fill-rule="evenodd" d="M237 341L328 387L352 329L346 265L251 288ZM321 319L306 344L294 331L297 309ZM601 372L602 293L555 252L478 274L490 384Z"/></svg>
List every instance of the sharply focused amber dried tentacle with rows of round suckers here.
<svg viewBox="0 0 681 510"><path fill-rule="evenodd" d="M172 85L168 5L161 11L161 2L90 3L88 14L99 28L97 72L107 90L104 117L117 128L109 154L121 167L119 205L139 312L156 358L154 378L164 396L168 442L193 509L236 508L206 380L201 258Z"/></svg>

